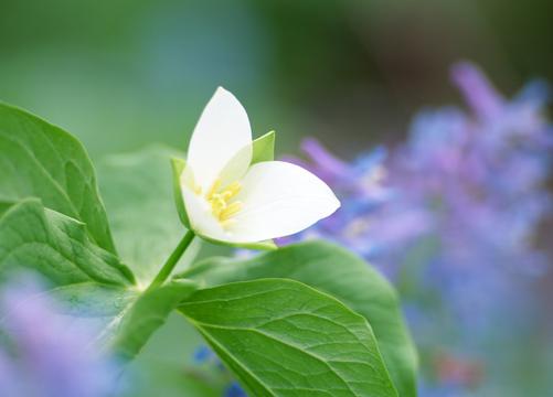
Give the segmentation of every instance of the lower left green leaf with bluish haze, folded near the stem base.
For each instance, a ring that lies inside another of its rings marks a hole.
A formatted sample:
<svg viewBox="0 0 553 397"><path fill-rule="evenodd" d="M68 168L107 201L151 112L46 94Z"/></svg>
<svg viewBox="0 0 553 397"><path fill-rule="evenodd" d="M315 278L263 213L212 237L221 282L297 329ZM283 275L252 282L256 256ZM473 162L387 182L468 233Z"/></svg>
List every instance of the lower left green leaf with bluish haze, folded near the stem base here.
<svg viewBox="0 0 553 397"><path fill-rule="evenodd" d="M129 269L96 246L81 222L36 198L11 205L0 217L0 279L25 268L46 277L67 314L97 329L98 341L125 358L136 355L195 289L177 280L141 291Z"/></svg>

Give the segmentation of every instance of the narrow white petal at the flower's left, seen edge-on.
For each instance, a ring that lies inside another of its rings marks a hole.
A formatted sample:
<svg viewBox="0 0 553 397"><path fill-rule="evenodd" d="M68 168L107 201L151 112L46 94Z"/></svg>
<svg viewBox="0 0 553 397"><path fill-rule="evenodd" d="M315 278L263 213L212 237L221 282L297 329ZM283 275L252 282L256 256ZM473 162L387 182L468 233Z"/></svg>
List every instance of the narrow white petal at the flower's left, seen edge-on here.
<svg viewBox="0 0 553 397"><path fill-rule="evenodd" d="M225 239L225 230L215 219L209 203L195 194L187 184L181 184L182 198L192 229L202 236L213 239Z"/></svg>

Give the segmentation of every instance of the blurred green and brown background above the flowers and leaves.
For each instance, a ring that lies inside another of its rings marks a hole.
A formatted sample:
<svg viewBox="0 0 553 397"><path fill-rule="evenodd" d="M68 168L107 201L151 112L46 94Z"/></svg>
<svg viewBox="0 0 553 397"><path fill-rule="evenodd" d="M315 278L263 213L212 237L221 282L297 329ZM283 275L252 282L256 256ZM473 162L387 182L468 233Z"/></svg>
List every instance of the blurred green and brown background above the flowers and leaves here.
<svg viewBox="0 0 553 397"><path fill-rule="evenodd" d="M552 37L551 0L0 0L0 100L98 160L153 142L184 150L222 85L256 136L277 130L279 154L309 135L352 158L400 140L422 106L460 103L448 79L458 60L507 94L552 82ZM130 371L140 395L183 395L198 343L171 318Z"/></svg>

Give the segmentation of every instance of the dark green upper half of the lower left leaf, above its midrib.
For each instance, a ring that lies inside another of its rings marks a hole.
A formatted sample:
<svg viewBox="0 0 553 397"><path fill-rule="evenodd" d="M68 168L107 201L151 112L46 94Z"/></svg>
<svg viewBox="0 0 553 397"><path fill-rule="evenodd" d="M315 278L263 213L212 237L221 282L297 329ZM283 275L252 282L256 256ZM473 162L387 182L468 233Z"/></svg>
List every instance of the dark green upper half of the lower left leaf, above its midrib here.
<svg viewBox="0 0 553 397"><path fill-rule="evenodd" d="M57 286L134 283L129 269L88 238L84 224L44 208L36 198L13 204L0 218L0 278L22 268Z"/></svg>

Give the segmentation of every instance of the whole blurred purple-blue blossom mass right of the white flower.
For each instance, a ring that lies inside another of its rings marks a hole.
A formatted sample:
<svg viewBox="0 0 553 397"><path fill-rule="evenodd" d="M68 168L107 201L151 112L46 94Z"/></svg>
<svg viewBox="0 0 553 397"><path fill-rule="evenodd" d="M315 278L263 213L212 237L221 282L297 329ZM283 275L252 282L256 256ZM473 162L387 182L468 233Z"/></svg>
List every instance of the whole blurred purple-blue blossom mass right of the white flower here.
<svg viewBox="0 0 553 397"><path fill-rule="evenodd" d="M482 340L523 326L532 312L527 292L546 270L536 238L551 210L553 129L543 84L507 99L472 64L455 65L451 77L468 111L423 110L389 154L376 149L347 163L306 140L307 160L289 160L328 182L342 207L280 243L321 237L347 246L396 283L423 350L444 343L478 352ZM443 367L435 372L447 378ZM466 373L459 383L481 377Z"/></svg>

